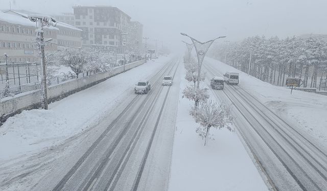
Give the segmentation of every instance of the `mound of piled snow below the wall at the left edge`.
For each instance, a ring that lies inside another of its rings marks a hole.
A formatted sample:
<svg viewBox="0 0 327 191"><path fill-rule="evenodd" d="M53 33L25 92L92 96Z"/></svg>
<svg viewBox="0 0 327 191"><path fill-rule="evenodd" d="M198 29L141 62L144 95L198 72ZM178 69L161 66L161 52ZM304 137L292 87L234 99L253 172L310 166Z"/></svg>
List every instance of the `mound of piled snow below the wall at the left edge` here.
<svg viewBox="0 0 327 191"><path fill-rule="evenodd" d="M23 111L9 118L0 128L0 159L17 153L26 154L26 150L37 147L52 146L67 138L69 131L72 129L68 128L67 119L54 111Z"/></svg>

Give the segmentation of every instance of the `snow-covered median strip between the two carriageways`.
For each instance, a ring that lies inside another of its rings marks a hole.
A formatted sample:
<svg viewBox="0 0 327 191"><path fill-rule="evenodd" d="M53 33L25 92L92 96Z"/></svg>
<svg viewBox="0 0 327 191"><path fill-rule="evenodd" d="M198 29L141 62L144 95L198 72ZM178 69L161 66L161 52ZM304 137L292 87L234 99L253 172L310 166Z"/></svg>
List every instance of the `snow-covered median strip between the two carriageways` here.
<svg viewBox="0 0 327 191"><path fill-rule="evenodd" d="M186 80L180 89L184 89ZM178 102L169 191L177 190L267 190L237 133L223 128L211 129L212 138L204 140L195 132L199 124L189 115L193 102ZM213 95L211 95L213 98Z"/></svg>

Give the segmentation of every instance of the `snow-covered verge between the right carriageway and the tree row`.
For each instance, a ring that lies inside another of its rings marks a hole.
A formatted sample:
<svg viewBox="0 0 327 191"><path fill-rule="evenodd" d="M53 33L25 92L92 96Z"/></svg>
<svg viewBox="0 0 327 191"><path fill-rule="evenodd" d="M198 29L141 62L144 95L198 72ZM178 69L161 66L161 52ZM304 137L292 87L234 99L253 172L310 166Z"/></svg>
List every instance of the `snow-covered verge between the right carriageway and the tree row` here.
<svg viewBox="0 0 327 191"><path fill-rule="evenodd" d="M206 58L204 62L220 70L221 74L217 75L226 71L240 73L240 87L258 98L279 117L327 147L327 96L296 89L291 94L287 87L273 86L220 61Z"/></svg>

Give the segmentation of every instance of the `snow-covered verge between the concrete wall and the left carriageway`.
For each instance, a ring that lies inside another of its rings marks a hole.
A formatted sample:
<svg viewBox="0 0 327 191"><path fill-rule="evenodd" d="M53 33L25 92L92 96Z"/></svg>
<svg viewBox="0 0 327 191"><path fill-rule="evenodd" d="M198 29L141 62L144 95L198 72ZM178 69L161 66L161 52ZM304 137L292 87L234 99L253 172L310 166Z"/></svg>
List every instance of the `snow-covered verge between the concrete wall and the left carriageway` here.
<svg viewBox="0 0 327 191"><path fill-rule="evenodd" d="M0 161L29 156L60 144L97 123L124 94L134 94L140 78L148 78L170 57L147 62L96 86L49 104L49 110L23 111L0 127ZM114 90L114 91L112 91ZM113 109L113 108L112 108Z"/></svg>

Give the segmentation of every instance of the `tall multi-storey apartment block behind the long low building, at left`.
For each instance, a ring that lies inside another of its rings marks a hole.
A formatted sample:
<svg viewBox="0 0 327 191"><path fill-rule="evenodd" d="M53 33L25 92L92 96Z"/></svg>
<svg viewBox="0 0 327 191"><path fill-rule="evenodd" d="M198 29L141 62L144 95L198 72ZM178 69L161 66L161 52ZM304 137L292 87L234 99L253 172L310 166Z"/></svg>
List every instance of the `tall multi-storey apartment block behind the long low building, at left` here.
<svg viewBox="0 0 327 191"><path fill-rule="evenodd" d="M111 6L74 6L75 26L82 32L82 46L122 51L123 32L130 32L126 13Z"/></svg>

